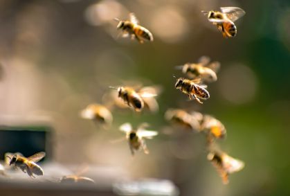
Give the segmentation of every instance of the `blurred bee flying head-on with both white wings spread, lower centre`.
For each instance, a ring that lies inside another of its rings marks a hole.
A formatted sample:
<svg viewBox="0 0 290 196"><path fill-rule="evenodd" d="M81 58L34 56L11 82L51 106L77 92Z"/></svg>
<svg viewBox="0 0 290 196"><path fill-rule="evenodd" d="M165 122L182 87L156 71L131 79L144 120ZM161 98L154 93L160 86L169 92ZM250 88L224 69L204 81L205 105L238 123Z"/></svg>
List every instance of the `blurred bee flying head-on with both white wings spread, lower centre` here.
<svg viewBox="0 0 290 196"><path fill-rule="evenodd" d="M126 139L129 143L132 155L134 155L135 151L140 149L143 149L145 154L149 154L145 139L152 139L158 132L145 130L145 127L147 127L147 123L141 124L137 130L134 130L130 123L124 123L119 127L120 131L126 134Z"/></svg>

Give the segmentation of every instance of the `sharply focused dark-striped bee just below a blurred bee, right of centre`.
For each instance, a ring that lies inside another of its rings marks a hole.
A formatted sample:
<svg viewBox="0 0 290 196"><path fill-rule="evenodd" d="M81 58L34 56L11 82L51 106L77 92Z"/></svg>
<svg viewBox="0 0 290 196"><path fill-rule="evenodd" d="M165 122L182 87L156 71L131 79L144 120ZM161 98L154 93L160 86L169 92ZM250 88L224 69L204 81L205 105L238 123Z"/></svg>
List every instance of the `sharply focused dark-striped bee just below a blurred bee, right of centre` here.
<svg viewBox="0 0 290 196"><path fill-rule="evenodd" d="M195 99L201 103L199 98L206 100L210 98L210 93L206 90L206 85L199 84L200 80L189 80L186 78L178 78L175 83L175 88L180 89L183 93L188 95L190 100Z"/></svg>

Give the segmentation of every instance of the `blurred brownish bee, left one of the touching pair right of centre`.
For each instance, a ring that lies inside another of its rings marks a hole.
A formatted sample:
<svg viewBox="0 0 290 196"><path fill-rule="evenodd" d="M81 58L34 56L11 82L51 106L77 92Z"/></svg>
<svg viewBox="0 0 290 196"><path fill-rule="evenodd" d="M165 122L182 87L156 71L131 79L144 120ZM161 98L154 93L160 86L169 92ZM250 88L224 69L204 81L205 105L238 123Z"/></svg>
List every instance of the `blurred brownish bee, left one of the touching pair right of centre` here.
<svg viewBox="0 0 290 196"><path fill-rule="evenodd" d="M188 130L199 131L199 121L183 109L167 109L165 119L172 123L181 125Z"/></svg>

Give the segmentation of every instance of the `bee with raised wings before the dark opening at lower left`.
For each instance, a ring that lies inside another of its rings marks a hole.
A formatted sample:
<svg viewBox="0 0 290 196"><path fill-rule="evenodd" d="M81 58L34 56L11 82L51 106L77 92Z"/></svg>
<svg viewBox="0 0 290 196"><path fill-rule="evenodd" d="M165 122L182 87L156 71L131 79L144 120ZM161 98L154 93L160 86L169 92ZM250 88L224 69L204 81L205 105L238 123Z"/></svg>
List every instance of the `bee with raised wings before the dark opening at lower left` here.
<svg viewBox="0 0 290 196"><path fill-rule="evenodd" d="M44 171L37 162L45 157L45 152L38 152L32 156L26 158L19 153L13 155L13 157L8 157L10 159L9 165L14 165L15 169L20 168L24 173L27 172L28 176L34 177L35 175L44 175Z"/></svg>

